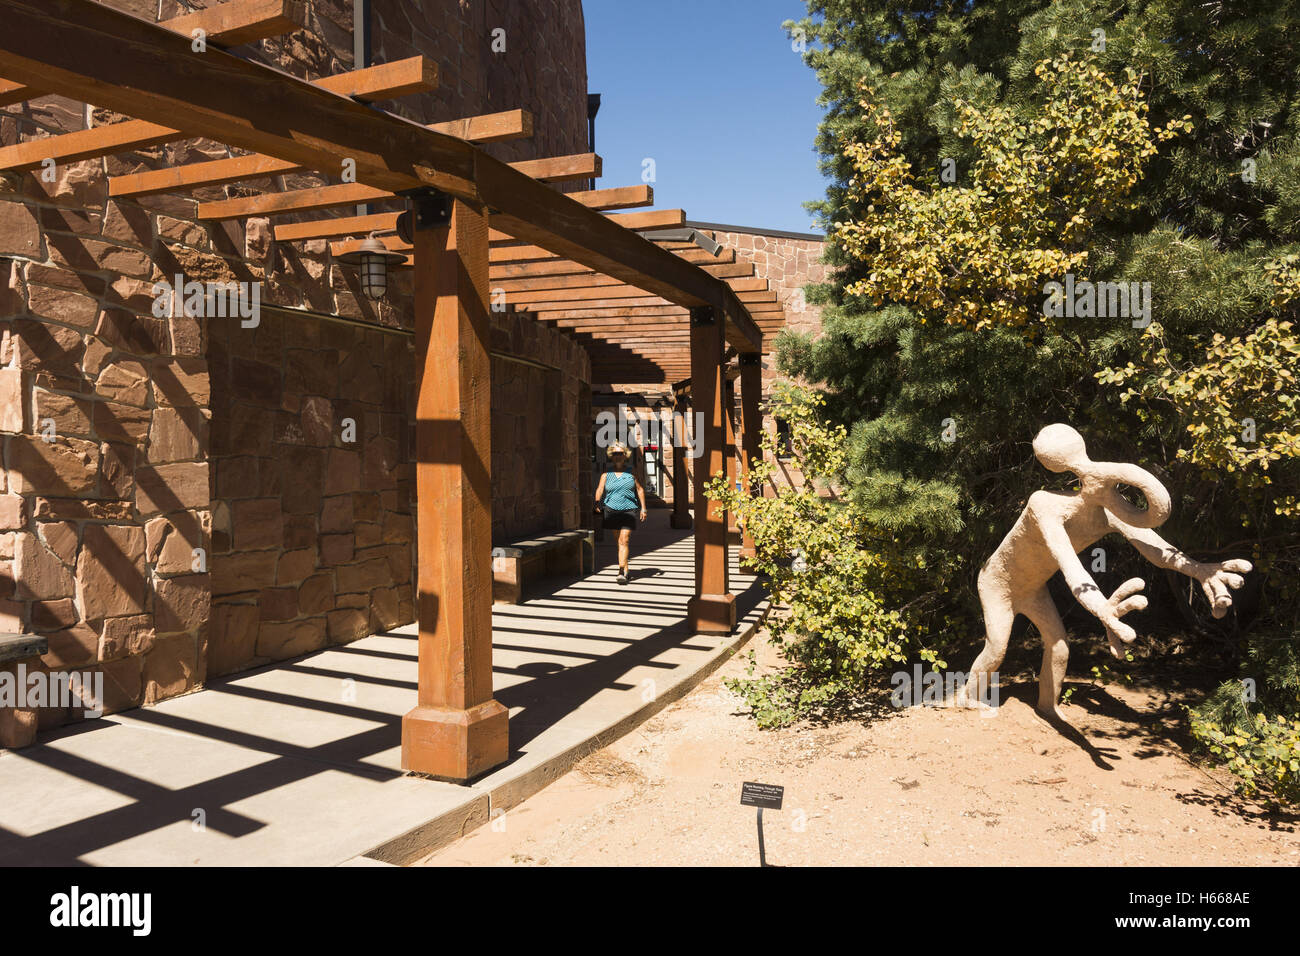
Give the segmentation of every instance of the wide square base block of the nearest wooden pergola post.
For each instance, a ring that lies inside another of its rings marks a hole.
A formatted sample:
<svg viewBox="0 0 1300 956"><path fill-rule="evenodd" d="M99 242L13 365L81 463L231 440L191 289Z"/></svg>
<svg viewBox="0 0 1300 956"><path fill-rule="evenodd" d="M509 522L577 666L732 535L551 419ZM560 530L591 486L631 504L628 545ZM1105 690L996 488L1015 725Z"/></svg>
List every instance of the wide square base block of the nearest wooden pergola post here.
<svg viewBox="0 0 1300 956"><path fill-rule="evenodd" d="M495 700L468 710L417 706L402 718L402 769L469 780L510 757L510 714Z"/></svg>

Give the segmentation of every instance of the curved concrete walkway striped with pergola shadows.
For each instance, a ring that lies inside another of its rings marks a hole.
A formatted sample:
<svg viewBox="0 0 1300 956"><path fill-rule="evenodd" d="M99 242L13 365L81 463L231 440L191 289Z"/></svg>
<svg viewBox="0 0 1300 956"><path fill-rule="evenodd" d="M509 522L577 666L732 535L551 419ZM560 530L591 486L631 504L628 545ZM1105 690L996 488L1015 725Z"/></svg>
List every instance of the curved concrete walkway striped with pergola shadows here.
<svg viewBox="0 0 1300 956"><path fill-rule="evenodd" d="M460 787L400 770L415 627L217 680L0 752L0 865L410 862L491 819L686 693L754 632L689 633L693 542L651 512L633 580L601 570L493 613L511 760Z"/></svg>

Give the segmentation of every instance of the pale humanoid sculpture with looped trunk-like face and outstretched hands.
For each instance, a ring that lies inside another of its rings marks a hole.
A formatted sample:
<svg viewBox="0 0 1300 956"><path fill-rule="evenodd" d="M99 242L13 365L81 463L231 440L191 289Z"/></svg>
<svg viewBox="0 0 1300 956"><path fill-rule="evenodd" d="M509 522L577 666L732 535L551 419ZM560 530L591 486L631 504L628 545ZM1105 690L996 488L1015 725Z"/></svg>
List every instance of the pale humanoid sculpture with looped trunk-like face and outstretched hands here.
<svg viewBox="0 0 1300 956"><path fill-rule="evenodd" d="M1034 454L1049 471L1076 475L1079 490L1031 494L1015 525L980 568L984 649L971 665L956 702L968 705L972 701L967 691L974 696L976 688L988 687L992 672L1006 654L1011 622L1017 614L1023 614L1043 637L1039 713L1063 719L1058 701L1070 649L1061 615L1046 588L1057 568L1065 575L1070 593L1106 626L1110 653L1122 659L1123 645L1138 635L1121 618L1147 606L1147 598L1138 593L1147 584L1141 578L1130 578L1108 598L1079 561L1079 551L1104 535L1118 531L1152 564L1200 581L1216 618L1227 614L1232 605L1230 589L1245 583L1242 575L1251 570L1251 562L1201 563L1165 541L1153 531L1169 518L1170 499L1165 486L1136 464L1091 460L1083 436L1070 425L1048 425L1039 432L1034 438ZM1140 490L1147 498L1147 509L1141 510L1124 499L1119 484Z"/></svg>

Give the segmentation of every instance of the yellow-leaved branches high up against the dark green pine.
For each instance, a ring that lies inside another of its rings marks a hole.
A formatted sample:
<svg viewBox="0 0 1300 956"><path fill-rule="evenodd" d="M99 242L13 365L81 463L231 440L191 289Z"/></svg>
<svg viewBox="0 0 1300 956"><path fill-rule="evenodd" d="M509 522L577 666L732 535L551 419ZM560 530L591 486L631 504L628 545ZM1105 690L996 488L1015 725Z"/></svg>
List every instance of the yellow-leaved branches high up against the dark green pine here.
<svg viewBox="0 0 1300 956"><path fill-rule="evenodd" d="M918 177L889 109L863 86L875 135L845 142L848 194L867 216L835 228L846 255L870 268L848 286L874 306L905 303L954 325L1043 321L1043 286L1088 265L1093 224L1114 213L1157 144L1187 117L1152 127L1140 77L1117 83L1092 60L1036 68L1045 103L1032 117L958 101L957 134L975 147L968 185Z"/></svg>

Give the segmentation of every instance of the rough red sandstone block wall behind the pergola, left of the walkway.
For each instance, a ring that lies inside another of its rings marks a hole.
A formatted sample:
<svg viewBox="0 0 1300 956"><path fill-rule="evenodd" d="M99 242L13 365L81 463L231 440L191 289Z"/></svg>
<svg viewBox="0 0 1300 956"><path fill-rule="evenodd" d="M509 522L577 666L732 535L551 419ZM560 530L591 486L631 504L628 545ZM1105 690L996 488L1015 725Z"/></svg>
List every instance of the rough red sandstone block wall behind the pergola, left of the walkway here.
<svg viewBox="0 0 1300 956"><path fill-rule="evenodd" d="M105 3L162 20L209 5ZM304 77L351 69L351 0L308 8L308 30L240 53ZM504 55L480 42L488 23L506 29ZM577 0L374 0L373 52L439 62L438 91L386 104L412 118L524 107L537 137L491 147L503 159L585 150ZM120 118L44 96L0 111L0 144ZM309 176L108 196L109 176L226 155L174 142L64 165L53 182L39 170L0 178L0 631L48 636L49 653L29 670L103 671L110 713L413 617L412 356L399 333L411 325L408 273L372 303L325 242L273 243L268 220L196 219L196 199L320 182ZM261 324L156 317L153 282L177 273L261 282ZM520 393L530 415L546 410L512 423L502 449L549 462L540 486L551 524L576 527L584 449L550 416L589 415L589 363L524 321L497 316L493 347L549 365L534 371L559 392L542 388L543 403L532 405L537 375L514 372L530 367L494 360L494 414L510 420ZM344 419L355 441L343 438ZM558 442L543 442L556 431ZM506 454L494 447L504 502L494 532L511 535L542 516L520 506L537 489L514 485L520 468ZM42 726L74 717L39 714ZM30 718L0 713L0 745L29 741Z"/></svg>

